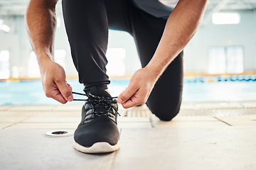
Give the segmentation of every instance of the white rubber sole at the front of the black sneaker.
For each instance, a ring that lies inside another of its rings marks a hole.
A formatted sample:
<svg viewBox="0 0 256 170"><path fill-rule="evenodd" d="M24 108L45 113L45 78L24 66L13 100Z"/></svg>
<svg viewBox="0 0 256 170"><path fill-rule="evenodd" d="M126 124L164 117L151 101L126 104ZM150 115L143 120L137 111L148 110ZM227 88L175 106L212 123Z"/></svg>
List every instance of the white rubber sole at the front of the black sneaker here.
<svg viewBox="0 0 256 170"><path fill-rule="evenodd" d="M82 145L79 145L74 140L73 147L80 152L89 153L89 154L100 154L100 153L114 152L119 149L120 144L118 140L116 145L110 145L107 142L97 142L93 144L91 147L83 147Z"/></svg>

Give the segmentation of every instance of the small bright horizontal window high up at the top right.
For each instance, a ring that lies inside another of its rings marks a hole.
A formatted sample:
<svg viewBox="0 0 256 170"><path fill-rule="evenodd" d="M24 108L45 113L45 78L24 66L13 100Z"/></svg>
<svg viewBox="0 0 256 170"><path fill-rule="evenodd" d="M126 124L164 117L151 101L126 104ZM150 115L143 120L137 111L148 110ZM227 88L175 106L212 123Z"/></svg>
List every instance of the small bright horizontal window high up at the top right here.
<svg viewBox="0 0 256 170"><path fill-rule="evenodd" d="M240 23L239 13L213 13L213 24L238 24Z"/></svg>

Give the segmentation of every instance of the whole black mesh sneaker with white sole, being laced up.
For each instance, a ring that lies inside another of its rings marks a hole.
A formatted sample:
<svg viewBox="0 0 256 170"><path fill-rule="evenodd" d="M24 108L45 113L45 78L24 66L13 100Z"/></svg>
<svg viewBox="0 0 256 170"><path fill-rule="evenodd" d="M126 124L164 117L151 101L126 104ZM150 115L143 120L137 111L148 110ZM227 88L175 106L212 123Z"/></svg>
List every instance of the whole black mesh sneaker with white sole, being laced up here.
<svg viewBox="0 0 256 170"><path fill-rule="evenodd" d="M82 106L82 120L74 133L74 147L85 153L119 149L117 101L107 91L93 87Z"/></svg>

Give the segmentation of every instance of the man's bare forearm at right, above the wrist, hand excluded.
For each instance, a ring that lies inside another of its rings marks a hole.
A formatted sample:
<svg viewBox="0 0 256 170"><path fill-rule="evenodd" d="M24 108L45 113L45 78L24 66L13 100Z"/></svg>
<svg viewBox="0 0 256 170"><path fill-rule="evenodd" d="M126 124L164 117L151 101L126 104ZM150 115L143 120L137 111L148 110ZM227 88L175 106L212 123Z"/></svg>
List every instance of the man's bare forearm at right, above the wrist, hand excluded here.
<svg viewBox="0 0 256 170"><path fill-rule="evenodd" d="M158 79L198 29L207 0L180 0L168 18L154 56L146 66Z"/></svg>

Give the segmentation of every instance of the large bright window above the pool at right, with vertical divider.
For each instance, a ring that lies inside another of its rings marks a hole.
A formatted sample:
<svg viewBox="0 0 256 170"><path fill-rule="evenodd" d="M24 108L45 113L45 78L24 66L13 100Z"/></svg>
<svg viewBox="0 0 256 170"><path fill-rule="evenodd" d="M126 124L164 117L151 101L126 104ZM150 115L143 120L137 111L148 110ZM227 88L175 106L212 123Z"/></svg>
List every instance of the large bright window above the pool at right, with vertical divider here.
<svg viewBox="0 0 256 170"><path fill-rule="evenodd" d="M208 72L210 74L243 72L243 53L241 46L210 47Z"/></svg>

